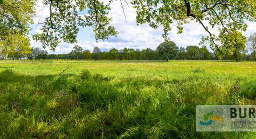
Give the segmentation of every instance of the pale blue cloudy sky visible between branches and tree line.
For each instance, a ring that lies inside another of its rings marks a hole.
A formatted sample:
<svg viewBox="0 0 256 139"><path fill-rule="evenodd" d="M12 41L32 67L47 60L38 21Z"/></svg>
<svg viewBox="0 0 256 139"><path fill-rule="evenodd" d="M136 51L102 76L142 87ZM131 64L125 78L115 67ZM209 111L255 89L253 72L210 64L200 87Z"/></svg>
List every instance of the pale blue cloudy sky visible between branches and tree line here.
<svg viewBox="0 0 256 139"><path fill-rule="evenodd" d="M74 45L79 45L83 47L84 50L88 49L90 51L93 50L94 46L98 46L102 51L108 51L112 48L119 50L124 47L133 49L139 48L140 50L150 48L155 50L157 46L164 41L162 37L163 29L161 27L152 29L148 24L137 26L135 9L131 6L128 7L126 4L124 4L124 12L127 17L126 22L120 1L115 0L111 4L109 16L113 18L111 25L114 25L119 32L117 37L111 37L108 40L96 42L94 39L94 32L90 27L80 28L80 31L77 34L77 43L69 44L61 42L55 51L50 51L49 48L46 48L45 50L50 54L66 54L71 52ZM32 39L32 35L41 31L38 22L42 22L49 16L49 13L49 8L44 8L41 0L38 0L36 14L33 16L34 24L31 25L32 30L30 31L31 46L42 48L41 43ZM80 12L79 14L82 15L85 14L85 12ZM201 38L208 35L201 24L196 22L185 24L182 34L177 34L178 30L175 25L175 21L173 21L172 31L169 32L169 38L179 47L198 45ZM244 32L244 35L249 37L250 34L254 33L255 28L256 23L248 23L248 30ZM216 29L210 29L210 31L215 34L218 33ZM210 48L208 47L208 49Z"/></svg>

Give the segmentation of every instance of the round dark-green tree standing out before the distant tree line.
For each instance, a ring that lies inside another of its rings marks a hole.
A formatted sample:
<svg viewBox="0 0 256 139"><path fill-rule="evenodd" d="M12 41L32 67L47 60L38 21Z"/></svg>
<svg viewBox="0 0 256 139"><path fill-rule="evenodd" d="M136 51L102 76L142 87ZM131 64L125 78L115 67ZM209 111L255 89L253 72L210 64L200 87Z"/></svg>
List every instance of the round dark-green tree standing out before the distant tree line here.
<svg viewBox="0 0 256 139"><path fill-rule="evenodd" d="M179 48L173 41L165 41L157 47L157 51L168 61L177 56Z"/></svg>

